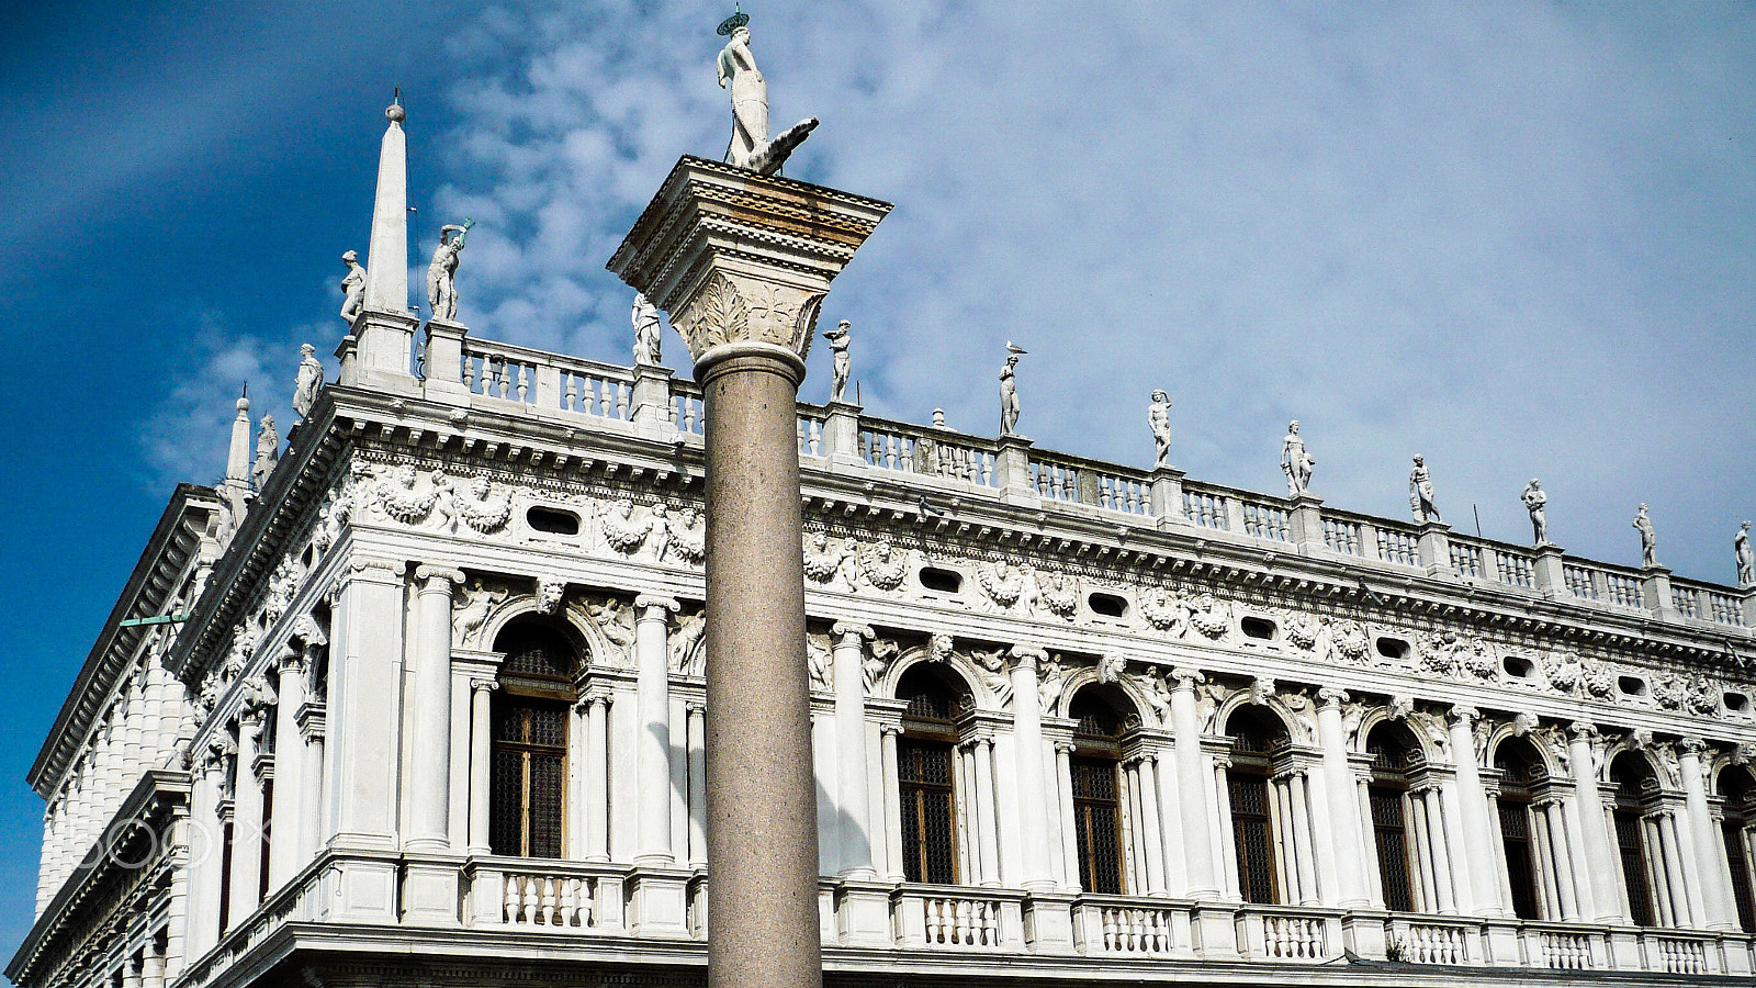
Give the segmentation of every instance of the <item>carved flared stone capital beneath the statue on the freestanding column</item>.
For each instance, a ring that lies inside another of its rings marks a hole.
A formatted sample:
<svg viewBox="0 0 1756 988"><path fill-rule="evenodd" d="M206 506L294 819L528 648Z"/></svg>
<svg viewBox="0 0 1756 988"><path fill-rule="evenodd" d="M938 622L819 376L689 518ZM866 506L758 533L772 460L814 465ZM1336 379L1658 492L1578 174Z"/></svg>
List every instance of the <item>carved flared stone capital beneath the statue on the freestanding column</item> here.
<svg viewBox="0 0 1756 988"><path fill-rule="evenodd" d="M608 267L671 316L697 373L730 345L802 362L829 283L889 213L876 199L685 155Z"/></svg>

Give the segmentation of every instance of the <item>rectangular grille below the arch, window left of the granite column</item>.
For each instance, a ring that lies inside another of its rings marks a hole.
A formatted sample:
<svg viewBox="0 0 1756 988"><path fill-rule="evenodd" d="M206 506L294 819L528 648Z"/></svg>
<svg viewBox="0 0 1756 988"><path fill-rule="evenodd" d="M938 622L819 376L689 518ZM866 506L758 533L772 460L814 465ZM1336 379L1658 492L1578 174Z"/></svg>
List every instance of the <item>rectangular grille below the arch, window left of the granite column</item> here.
<svg viewBox="0 0 1756 988"><path fill-rule="evenodd" d="M567 707L497 696L490 759L488 847L518 858L562 856Z"/></svg>

